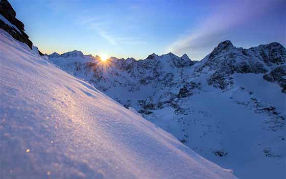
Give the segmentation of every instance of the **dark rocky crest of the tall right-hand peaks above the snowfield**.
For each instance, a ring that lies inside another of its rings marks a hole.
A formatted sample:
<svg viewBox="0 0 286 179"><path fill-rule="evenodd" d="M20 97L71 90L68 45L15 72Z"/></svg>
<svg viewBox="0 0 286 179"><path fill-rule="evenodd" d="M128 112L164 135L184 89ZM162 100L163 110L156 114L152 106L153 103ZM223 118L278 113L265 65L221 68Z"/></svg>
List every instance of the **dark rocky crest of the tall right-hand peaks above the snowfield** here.
<svg viewBox="0 0 286 179"><path fill-rule="evenodd" d="M207 57L205 63L196 69L201 73L204 69L214 71L208 78L208 84L214 87L226 89L232 84L231 75L234 73L265 74L286 62L286 50L277 43L269 43L250 49L236 48L229 40L221 42ZM280 66L270 74L264 76L268 81L277 82L285 91L285 80ZM279 79L278 79L279 78Z"/></svg>

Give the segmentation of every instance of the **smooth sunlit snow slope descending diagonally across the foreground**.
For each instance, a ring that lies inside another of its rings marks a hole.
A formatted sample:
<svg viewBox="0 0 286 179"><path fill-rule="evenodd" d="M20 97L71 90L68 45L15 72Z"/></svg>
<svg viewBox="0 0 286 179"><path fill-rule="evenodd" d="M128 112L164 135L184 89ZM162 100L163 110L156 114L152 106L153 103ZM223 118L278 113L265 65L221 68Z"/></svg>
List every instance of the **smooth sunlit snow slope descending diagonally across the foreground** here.
<svg viewBox="0 0 286 179"><path fill-rule="evenodd" d="M236 178L3 30L0 54L1 178Z"/></svg>

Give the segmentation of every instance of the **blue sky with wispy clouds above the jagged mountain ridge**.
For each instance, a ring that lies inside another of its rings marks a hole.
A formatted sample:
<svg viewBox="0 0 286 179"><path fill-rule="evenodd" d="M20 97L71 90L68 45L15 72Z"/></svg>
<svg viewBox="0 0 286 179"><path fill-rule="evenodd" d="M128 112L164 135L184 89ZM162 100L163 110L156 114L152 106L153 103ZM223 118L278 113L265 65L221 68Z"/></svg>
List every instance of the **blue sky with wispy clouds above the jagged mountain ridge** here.
<svg viewBox="0 0 286 179"><path fill-rule="evenodd" d="M286 1L9 0L43 53L145 59L172 52L200 60L221 41L286 45Z"/></svg>

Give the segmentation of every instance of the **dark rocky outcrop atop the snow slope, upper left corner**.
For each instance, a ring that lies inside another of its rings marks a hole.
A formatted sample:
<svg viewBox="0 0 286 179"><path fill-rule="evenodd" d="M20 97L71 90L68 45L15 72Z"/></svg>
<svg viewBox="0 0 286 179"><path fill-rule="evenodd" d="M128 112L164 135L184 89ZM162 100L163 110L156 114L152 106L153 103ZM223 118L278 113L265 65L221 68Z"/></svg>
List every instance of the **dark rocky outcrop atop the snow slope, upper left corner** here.
<svg viewBox="0 0 286 179"><path fill-rule="evenodd" d="M16 18L16 12L7 0L0 1L0 28L8 32L13 38L26 43L33 49L33 42L24 32L24 24ZM39 52L40 55L43 55Z"/></svg>

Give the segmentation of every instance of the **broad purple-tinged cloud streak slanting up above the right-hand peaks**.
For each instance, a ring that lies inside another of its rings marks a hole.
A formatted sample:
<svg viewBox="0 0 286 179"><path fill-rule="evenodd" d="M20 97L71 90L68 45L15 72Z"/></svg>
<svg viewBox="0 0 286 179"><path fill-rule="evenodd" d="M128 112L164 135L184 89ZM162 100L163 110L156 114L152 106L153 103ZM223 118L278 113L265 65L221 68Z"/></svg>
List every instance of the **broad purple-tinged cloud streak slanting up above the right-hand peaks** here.
<svg viewBox="0 0 286 179"><path fill-rule="evenodd" d="M206 49L209 50L221 40L225 40L225 32L244 26L259 17L271 8L273 2L275 1L227 1L214 9L192 32L175 40L167 51L177 54L191 51L192 56L197 58L201 57L202 53L206 55Z"/></svg>

